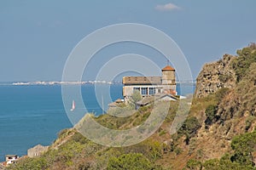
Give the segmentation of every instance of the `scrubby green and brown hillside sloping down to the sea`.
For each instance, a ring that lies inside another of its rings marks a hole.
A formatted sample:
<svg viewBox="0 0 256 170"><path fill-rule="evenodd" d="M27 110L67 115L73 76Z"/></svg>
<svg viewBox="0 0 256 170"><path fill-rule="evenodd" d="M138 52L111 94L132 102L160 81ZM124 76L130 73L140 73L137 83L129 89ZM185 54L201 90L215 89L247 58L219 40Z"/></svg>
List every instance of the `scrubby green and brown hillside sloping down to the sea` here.
<svg viewBox="0 0 256 170"><path fill-rule="evenodd" d="M178 102L170 105L162 125L139 144L107 147L74 128L64 129L43 156L24 158L8 169L256 169L254 43L237 50L237 56L224 54L203 66L189 116L172 135ZM149 105L129 117L94 119L105 127L129 129L145 122L152 110Z"/></svg>

